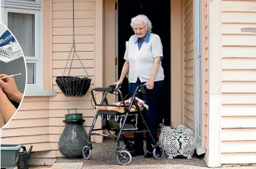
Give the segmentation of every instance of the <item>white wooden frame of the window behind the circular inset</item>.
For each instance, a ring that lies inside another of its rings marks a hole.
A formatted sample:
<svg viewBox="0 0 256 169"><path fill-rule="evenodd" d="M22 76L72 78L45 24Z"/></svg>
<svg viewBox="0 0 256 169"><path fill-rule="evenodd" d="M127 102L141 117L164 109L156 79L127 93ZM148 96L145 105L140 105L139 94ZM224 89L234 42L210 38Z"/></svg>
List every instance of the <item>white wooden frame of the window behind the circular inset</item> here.
<svg viewBox="0 0 256 169"><path fill-rule="evenodd" d="M1 5L1 20L2 23L8 27L8 12L16 13L28 13L35 14L35 56L25 58L25 63L35 64L35 83L26 84L26 91L42 91L43 90L43 43L40 39L43 39L43 14L42 7L34 8L28 6L20 6L20 1L23 0L2 0L5 5ZM15 5L6 5L8 1L16 2ZM36 0L39 2L39 6L42 6L42 0ZM29 5L30 3L28 3ZM14 35L15 36L15 35ZM26 70L27 70L27 65ZM26 80L27 82L27 80Z"/></svg>

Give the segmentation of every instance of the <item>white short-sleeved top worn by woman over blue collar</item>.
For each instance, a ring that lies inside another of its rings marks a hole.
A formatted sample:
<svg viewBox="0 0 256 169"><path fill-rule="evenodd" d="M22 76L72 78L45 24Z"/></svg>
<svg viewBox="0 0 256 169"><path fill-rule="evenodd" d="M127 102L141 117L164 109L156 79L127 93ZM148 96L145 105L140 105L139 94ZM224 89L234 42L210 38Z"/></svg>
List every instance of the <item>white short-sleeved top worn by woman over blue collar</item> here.
<svg viewBox="0 0 256 169"><path fill-rule="evenodd" d="M163 46L159 35L150 33L149 42L143 42L138 49L136 35L132 35L126 47L124 59L129 61L129 83L136 83L139 78L141 82L148 82L152 74L153 59L163 56ZM164 72L160 61L155 82L164 80Z"/></svg>

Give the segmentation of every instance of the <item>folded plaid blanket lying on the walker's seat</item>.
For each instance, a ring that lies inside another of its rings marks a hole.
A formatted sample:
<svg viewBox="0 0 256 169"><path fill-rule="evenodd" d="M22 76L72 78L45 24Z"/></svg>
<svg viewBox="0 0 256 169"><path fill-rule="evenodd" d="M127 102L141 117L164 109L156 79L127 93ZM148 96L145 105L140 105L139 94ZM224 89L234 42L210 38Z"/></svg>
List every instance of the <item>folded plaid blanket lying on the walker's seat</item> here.
<svg viewBox="0 0 256 169"><path fill-rule="evenodd" d="M140 111L142 111L144 108L148 109L148 105L145 104L145 101L141 100L140 98L136 97L136 101L137 101L137 105L140 108ZM131 102L131 98L129 98L128 100L125 101L126 106L129 106ZM111 105L101 105L101 106L96 106L97 111L116 111L119 113L125 113L125 107L123 106L123 102L119 101L119 102L114 102ZM131 109L130 112L136 112L136 106L134 104L131 105Z"/></svg>

